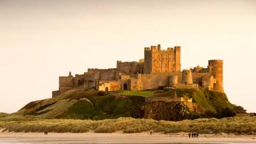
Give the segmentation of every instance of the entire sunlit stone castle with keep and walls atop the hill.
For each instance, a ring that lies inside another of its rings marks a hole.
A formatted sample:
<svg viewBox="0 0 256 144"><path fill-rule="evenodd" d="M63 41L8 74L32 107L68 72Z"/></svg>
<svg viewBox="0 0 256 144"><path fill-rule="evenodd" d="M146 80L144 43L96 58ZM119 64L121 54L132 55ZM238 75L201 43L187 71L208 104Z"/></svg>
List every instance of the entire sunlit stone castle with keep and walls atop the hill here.
<svg viewBox="0 0 256 144"><path fill-rule="evenodd" d="M97 89L99 91L141 91L169 87L176 89L223 90L223 61L209 60L207 68L194 67L181 71L181 47L161 50L161 45L145 47L144 59L117 61L113 69L88 69L82 75L59 77L59 90L55 97L71 89Z"/></svg>

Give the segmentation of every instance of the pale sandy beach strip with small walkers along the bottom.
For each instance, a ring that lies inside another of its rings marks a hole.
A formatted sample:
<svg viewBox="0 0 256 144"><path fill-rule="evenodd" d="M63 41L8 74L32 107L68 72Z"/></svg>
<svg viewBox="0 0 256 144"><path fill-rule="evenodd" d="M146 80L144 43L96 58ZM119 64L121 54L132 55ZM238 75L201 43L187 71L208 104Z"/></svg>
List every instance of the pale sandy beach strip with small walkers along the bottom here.
<svg viewBox="0 0 256 144"><path fill-rule="evenodd" d="M199 135L187 133L13 133L0 132L0 143L256 143L253 135Z"/></svg>

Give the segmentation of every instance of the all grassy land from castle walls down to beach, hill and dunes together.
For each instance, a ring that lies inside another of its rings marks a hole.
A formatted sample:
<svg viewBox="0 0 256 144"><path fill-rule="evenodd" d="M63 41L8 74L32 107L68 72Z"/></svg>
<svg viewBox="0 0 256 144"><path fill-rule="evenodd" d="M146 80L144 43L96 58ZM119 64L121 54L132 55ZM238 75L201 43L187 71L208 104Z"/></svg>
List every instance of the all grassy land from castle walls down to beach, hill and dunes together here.
<svg viewBox="0 0 256 144"><path fill-rule="evenodd" d="M173 97L174 93L177 97L192 98L193 103L203 109L204 113L189 111L183 102L146 101L147 97ZM117 95L125 97L117 97ZM153 108L153 117L147 113L149 107ZM231 105L225 93L204 89L199 91L172 89L165 92L117 91L116 93L78 89L67 91L51 99L32 101L17 113L0 113L0 129L15 132L197 131L255 135L255 113L243 117L229 117L233 115L233 111L239 114L245 113L243 107ZM201 117L228 118L196 119ZM185 120L179 121L182 119Z"/></svg>

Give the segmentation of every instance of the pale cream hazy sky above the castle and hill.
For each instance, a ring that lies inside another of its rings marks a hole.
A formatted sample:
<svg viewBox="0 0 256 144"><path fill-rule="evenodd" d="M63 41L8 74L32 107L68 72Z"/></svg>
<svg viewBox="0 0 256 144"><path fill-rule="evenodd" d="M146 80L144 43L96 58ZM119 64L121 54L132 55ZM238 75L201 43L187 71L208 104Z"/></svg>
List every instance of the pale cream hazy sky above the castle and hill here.
<svg viewBox="0 0 256 144"><path fill-rule="evenodd" d="M47 99L59 76L181 46L181 68L223 59L229 101L256 112L256 1L0 0L0 111Z"/></svg>

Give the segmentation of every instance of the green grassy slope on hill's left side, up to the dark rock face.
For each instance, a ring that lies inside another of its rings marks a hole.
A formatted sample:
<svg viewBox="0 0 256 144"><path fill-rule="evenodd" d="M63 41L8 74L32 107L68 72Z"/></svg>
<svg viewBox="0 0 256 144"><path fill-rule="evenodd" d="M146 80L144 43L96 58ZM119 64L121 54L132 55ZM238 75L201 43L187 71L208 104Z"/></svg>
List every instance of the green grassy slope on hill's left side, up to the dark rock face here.
<svg viewBox="0 0 256 144"><path fill-rule="evenodd" d="M32 101L15 114L33 115L42 119L143 118L143 105L144 97L117 98L101 91L79 89L67 91L51 99Z"/></svg>

